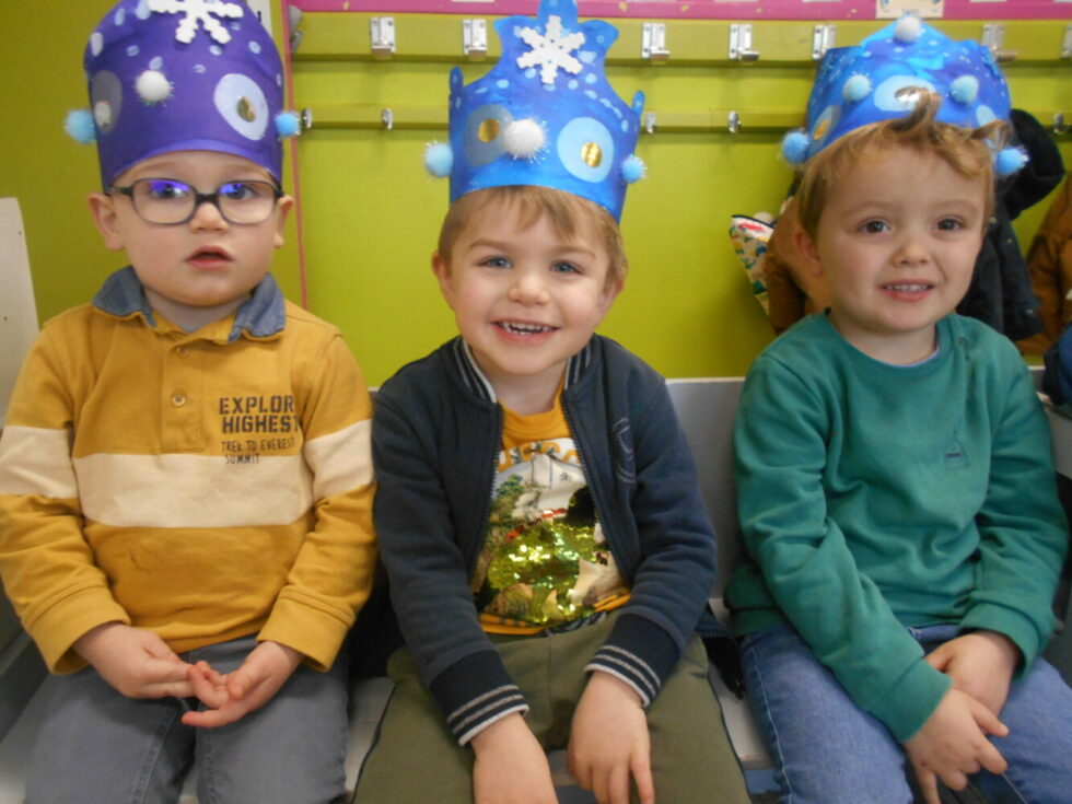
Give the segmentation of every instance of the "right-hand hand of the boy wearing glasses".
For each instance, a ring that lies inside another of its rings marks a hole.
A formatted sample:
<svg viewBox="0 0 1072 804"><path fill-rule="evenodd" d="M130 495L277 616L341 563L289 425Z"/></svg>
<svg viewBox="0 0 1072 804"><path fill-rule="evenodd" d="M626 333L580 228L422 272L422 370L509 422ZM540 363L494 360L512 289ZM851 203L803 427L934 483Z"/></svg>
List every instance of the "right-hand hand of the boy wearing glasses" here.
<svg viewBox="0 0 1072 804"><path fill-rule="evenodd" d="M242 666L228 675L198 662L189 667L189 680L207 709L187 712L183 723L202 729L234 723L271 700L301 663L301 653L271 641L254 648Z"/></svg>

